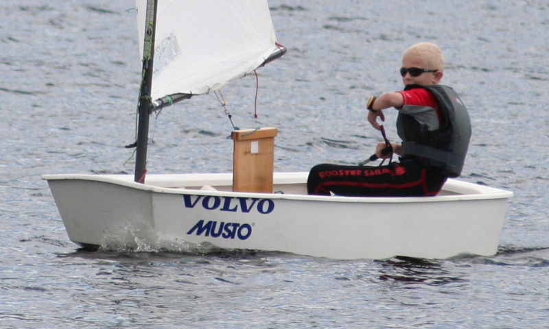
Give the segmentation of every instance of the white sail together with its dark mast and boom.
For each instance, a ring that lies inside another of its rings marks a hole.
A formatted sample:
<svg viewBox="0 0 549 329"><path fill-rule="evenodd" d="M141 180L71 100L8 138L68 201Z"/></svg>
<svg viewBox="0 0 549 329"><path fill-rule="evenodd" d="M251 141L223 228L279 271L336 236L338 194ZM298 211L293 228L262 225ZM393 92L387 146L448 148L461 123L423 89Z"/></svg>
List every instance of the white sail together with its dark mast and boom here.
<svg viewBox="0 0 549 329"><path fill-rule="evenodd" d="M218 90L278 58L285 48L277 44L266 0L136 0L136 5L143 69L137 136L126 147L136 147L134 180L143 183L152 112Z"/></svg>

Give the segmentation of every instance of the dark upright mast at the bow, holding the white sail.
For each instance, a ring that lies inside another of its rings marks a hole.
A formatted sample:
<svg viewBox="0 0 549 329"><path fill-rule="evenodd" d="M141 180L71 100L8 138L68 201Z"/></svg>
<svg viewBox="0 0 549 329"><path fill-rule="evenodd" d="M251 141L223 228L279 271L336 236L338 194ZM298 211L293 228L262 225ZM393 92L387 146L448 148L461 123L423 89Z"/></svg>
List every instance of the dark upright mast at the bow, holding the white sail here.
<svg viewBox="0 0 549 329"><path fill-rule="evenodd" d="M155 0L147 1L145 13L145 40L143 47L143 70L141 74L141 88L139 90L139 107L137 123L137 151L135 156L135 176L138 183L145 182L147 165L147 145L149 139L149 117L152 108L152 62L154 58L154 33L156 29L156 3Z"/></svg>

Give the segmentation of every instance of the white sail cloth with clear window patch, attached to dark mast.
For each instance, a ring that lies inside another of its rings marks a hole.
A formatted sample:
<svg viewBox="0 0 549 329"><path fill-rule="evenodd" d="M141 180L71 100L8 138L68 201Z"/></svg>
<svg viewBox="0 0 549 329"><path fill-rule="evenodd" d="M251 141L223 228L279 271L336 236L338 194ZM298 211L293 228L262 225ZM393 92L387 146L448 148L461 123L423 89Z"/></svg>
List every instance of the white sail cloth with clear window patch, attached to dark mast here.
<svg viewBox="0 0 549 329"><path fill-rule="evenodd" d="M136 0L143 58L147 0ZM257 69L279 51L266 0L159 0L152 99L202 94Z"/></svg>

